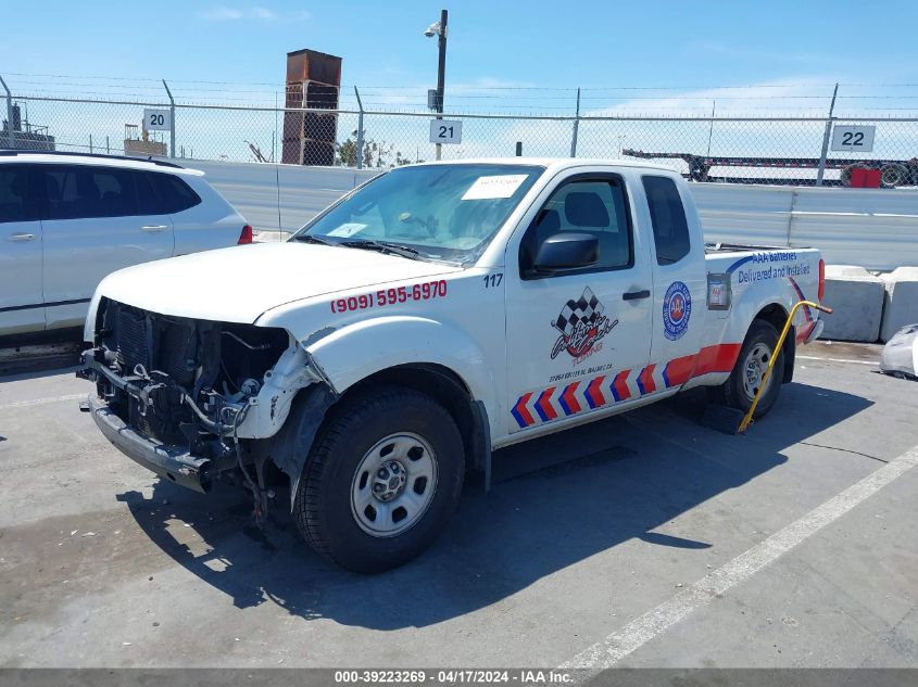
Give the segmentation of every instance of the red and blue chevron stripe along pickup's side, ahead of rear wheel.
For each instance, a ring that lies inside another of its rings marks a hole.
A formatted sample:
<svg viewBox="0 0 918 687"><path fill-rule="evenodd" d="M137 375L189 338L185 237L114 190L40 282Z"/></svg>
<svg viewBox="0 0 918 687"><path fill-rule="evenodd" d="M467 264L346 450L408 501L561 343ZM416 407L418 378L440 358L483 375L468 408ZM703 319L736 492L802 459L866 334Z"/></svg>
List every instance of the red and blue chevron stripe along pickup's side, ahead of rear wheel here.
<svg viewBox="0 0 918 687"><path fill-rule="evenodd" d="M681 386L693 377L729 372L740 355L740 346L738 343L707 346L695 355L669 360L662 370L661 366L651 362L644 368L620 370L614 376L606 373L577 380L564 387L548 386L526 392L511 408L511 415L524 430Z"/></svg>

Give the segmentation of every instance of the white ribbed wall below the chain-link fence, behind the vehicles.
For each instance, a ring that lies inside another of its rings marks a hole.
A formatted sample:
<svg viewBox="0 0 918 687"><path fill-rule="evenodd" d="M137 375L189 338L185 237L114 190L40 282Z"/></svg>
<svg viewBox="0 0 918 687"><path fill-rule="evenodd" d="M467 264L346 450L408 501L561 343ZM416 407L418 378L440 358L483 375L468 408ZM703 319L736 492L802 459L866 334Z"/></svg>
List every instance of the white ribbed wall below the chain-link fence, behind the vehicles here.
<svg viewBox="0 0 918 687"><path fill-rule="evenodd" d="M261 231L293 231L375 170L185 161ZM279 186L278 186L279 181ZM691 183L708 241L816 246L832 265L918 265L918 190ZM279 212L279 220L278 220Z"/></svg>

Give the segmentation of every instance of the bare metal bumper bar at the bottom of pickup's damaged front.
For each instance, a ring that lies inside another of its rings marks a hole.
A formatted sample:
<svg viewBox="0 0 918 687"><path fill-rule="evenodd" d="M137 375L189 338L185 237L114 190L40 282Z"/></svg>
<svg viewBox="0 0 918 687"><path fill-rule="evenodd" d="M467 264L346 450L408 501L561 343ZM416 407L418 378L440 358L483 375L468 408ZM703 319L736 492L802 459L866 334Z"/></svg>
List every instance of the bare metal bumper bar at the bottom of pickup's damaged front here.
<svg viewBox="0 0 918 687"><path fill-rule="evenodd" d="M187 446L166 446L137 433L95 394L89 394L89 412L105 438L135 462L189 489L210 491L209 458L192 456Z"/></svg>

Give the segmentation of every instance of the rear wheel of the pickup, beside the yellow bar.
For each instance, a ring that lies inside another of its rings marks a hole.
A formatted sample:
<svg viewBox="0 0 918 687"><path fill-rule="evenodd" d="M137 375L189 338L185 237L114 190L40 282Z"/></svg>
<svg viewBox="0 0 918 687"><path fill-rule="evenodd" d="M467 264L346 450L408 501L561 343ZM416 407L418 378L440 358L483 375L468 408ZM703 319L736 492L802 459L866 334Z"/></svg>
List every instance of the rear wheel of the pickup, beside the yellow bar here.
<svg viewBox="0 0 918 687"><path fill-rule="evenodd" d="M749 332L746 332L746 339L740 348L740 355L737 357L733 371L730 372L730 377L726 382L714 390L715 402L737 408L743 412L749 412L752 406L753 392L758 386L754 378L750 378L749 383L746 383L746 371L753 372L751 366L755 361L756 367L760 370L759 374L764 372L764 367L767 365L771 355L774 355L777 343L778 330L770 322L760 319L753 320ZM776 360L768 380L768 387L763 393L762 398L758 399L758 405L753 414L753 418L756 420L768 415L771 406L778 400L778 395L781 393L783 372L784 353L780 351L778 352L778 360Z"/></svg>

